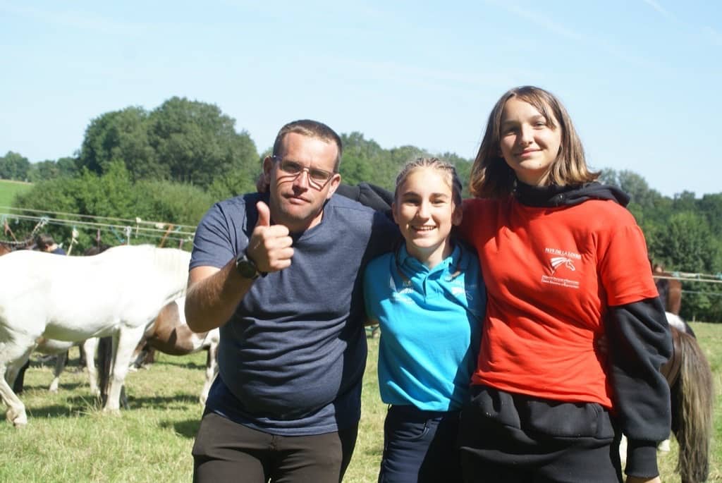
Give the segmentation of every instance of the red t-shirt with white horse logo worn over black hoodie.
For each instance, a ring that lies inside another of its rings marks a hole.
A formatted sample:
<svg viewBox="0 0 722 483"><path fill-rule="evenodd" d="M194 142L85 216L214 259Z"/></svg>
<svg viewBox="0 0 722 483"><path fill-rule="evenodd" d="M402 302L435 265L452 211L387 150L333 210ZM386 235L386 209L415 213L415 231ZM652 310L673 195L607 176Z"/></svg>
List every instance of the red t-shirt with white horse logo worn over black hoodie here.
<svg viewBox="0 0 722 483"><path fill-rule="evenodd" d="M607 310L658 295L632 214L614 201L469 199L461 232L479 253L488 296L472 383L611 408L596 349Z"/></svg>

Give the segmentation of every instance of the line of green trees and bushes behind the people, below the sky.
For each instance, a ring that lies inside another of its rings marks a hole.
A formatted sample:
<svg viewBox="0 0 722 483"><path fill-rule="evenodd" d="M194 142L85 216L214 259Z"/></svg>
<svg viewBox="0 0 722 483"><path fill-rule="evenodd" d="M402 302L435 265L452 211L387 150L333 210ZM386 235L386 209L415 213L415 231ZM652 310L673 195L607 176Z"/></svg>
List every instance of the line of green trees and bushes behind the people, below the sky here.
<svg viewBox="0 0 722 483"><path fill-rule="evenodd" d="M346 183L393 189L404 162L435 155L456 165L467 185L471 160L455 153L384 149L360 132L342 134L342 141ZM235 119L217 105L172 97L154 110L130 106L92 119L73 157L30 163L7 152L0 157L0 178L33 183L14 200L16 208L196 225L214 201L254 191L268 154L269 149L258 152L246 131L236 131ZM669 271L711 274L722 282L722 193L663 196L628 170L602 170L601 181L630 194L629 209L645 232L653 261ZM53 230L69 240L70 227ZM81 231L78 249L90 247L95 238L95 232ZM107 243L121 240L114 238ZM722 284L684 282L683 288L683 317L722 322Z"/></svg>

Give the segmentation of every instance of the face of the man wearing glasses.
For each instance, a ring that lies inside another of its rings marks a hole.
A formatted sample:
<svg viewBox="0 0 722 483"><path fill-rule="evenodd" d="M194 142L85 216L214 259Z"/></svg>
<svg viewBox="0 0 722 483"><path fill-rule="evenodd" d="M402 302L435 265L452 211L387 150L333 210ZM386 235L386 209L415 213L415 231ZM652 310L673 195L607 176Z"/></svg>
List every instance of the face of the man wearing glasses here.
<svg viewBox="0 0 722 483"><path fill-rule="evenodd" d="M323 204L341 182L341 175L333 173L337 156L338 148L333 142L298 133L284 136L278 157L264 160L274 224L285 225L291 232L300 232L321 222ZM284 166L294 169L287 172L282 169ZM300 173L293 174L298 167L302 168ZM329 180L320 183L318 175L314 177L309 169L333 174Z"/></svg>

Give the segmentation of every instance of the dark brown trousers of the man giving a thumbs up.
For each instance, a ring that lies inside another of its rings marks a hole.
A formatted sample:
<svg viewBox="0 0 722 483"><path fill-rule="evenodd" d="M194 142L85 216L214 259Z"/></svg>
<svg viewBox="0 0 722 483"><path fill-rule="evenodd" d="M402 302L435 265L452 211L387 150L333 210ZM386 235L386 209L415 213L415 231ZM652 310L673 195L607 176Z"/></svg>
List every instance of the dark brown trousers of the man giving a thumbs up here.
<svg viewBox="0 0 722 483"><path fill-rule="evenodd" d="M193 482L338 483L358 425L323 435L279 436L204 414L193 445Z"/></svg>

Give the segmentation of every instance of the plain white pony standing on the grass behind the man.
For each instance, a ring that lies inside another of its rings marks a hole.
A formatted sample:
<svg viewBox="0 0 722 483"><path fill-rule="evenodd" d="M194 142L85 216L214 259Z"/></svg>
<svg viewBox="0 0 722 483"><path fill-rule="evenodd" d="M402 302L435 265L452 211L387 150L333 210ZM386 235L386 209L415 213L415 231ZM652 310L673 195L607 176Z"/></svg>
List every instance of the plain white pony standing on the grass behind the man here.
<svg viewBox="0 0 722 483"><path fill-rule="evenodd" d="M0 396L6 418L27 424L12 383L42 339L112 335L113 374L103 409L118 411L133 349L163 305L185 292L190 258L186 251L151 245L121 245L90 257L35 251L0 257Z"/></svg>

